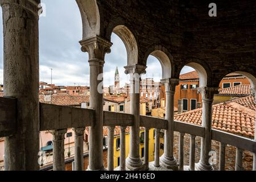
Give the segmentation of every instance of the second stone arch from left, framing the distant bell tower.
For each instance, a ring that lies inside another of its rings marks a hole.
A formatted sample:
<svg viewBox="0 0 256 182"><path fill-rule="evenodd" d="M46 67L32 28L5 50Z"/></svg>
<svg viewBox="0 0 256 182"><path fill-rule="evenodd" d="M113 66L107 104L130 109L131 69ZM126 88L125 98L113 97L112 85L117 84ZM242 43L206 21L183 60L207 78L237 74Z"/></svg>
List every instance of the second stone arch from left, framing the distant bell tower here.
<svg viewBox="0 0 256 182"><path fill-rule="evenodd" d="M138 64L138 44L137 40L135 39L133 33L123 25L118 25L114 27L113 31L114 34L119 36L119 38L125 44L125 48L127 51L127 65L135 65Z"/></svg>

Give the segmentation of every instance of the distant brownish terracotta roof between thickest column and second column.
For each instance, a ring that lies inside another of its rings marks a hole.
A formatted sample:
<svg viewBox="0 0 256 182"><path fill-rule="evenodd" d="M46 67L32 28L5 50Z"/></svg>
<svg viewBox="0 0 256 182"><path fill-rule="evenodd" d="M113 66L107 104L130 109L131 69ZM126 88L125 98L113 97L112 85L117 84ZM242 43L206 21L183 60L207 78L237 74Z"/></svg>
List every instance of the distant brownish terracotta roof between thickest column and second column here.
<svg viewBox="0 0 256 182"><path fill-rule="evenodd" d="M39 95L39 101L42 103L44 102L44 95ZM65 95L56 95L53 94L51 96L51 104L55 105L62 105L62 106L78 106L81 105L81 103L88 103L89 102L89 96L83 96L83 95L77 95L77 96L71 96L68 94Z"/></svg>

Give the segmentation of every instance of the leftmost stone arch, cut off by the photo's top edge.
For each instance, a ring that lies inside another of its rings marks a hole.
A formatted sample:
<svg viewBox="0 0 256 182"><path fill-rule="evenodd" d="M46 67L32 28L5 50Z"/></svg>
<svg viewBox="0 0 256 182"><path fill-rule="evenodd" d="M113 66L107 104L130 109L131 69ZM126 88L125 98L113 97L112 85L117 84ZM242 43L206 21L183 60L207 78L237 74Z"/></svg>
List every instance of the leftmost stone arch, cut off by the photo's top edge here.
<svg viewBox="0 0 256 182"><path fill-rule="evenodd" d="M100 35L100 11L96 0L76 0L82 18L82 39Z"/></svg>

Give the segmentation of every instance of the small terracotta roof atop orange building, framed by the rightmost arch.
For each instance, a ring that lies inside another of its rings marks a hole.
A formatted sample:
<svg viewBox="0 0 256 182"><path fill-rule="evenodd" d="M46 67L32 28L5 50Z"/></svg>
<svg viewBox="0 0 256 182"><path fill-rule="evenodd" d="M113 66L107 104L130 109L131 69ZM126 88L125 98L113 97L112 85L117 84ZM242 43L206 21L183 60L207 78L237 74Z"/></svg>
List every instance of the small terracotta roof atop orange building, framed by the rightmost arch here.
<svg viewBox="0 0 256 182"><path fill-rule="evenodd" d="M248 96L251 94L251 85L237 85L230 88L218 90L218 95L239 95L239 96Z"/></svg>

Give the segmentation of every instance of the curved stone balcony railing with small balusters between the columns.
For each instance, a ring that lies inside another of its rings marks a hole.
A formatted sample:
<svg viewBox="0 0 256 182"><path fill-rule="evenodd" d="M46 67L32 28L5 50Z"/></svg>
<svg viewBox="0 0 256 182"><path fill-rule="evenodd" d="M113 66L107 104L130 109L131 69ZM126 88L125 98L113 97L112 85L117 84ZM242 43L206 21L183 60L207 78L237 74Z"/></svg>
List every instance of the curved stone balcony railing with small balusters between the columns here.
<svg viewBox="0 0 256 182"><path fill-rule="evenodd" d="M15 134L16 130L16 100L13 98L0 98L0 137L9 137ZM109 126L109 148L113 148L113 133L111 127L121 126L121 156L120 169L125 169L125 130L127 126L133 126L133 115L125 113L115 113L104 111L104 126ZM77 107L57 106L49 104L40 104L40 131L51 130L53 134L53 169L63 170L65 163L65 149L64 149L64 134L67 129L83 129L85 126L92 126L94 122L94 110L81 109ZM167 120L155 117L148 117L141 115L140 126L144 127L144 163L146 168L148 166L148 130L156 129L155 135L155 165L159 164L159 130L168 130ZM192 125L189 123L174 122L174 131L180 133L179 137L179 169L182 170L183 165L183 147L184 134L191 136L190 140L190 155L189 155L189 169L195 170L195 138L204 137L204 127ZM74 150L75 158L81 159L84 150L79 150L83 138L76 132L77 139L75 140ZM240 137L238 135L226 133L220 130L212 130L212 140L220 142L220 161L219 169L224 170L225 166L225 146L229 144L237 148L236 154L236 170L241 170L242 167L242 152L250 151L256 154L256 142L252 139ZM90 143L93 144L93 143ZM76 148L77 147L77 148ZM110 150L110 149L109 149ZM108 152L109 166L113 166L113 152ZM76 163L81 162L75 160ZM79 165L79 164L77 164ZM254 164L255 165L255 164ZM78 167L79 168L79 167ZM111 169L111 168L110 168Z"/></svg>

